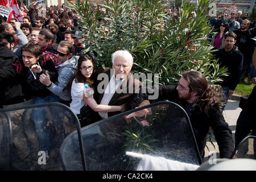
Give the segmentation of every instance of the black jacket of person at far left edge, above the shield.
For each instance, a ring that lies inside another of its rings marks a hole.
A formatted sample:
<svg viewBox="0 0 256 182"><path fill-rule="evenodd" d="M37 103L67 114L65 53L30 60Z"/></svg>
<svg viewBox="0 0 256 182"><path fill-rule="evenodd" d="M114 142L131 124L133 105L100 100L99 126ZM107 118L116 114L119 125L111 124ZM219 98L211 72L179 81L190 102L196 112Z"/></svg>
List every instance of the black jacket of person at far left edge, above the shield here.
<svg viewBox="0 0 256 182"><path fill-rule="evenodd" d="M16 64L18 63L18 67ZM31 93L28 90L26 74L22 75L24 69L18 57L7 47L0 48L0 84L2 105L18 104L30 100Z"/></svg>

